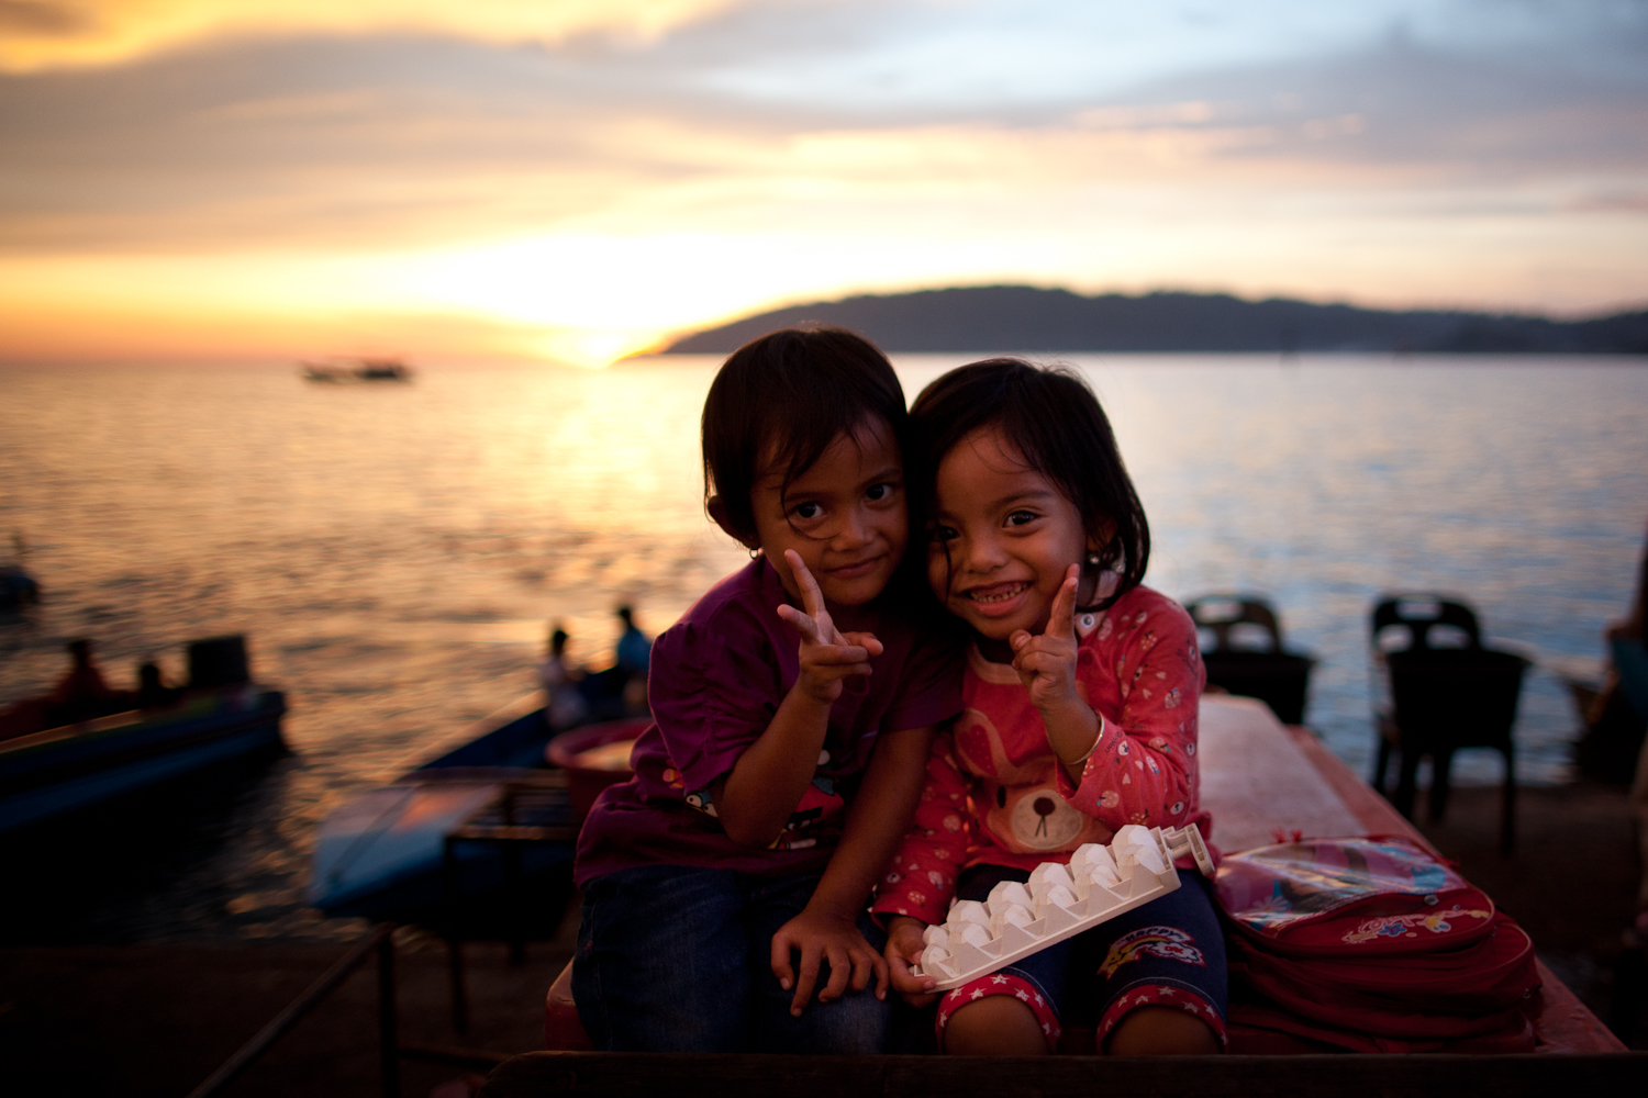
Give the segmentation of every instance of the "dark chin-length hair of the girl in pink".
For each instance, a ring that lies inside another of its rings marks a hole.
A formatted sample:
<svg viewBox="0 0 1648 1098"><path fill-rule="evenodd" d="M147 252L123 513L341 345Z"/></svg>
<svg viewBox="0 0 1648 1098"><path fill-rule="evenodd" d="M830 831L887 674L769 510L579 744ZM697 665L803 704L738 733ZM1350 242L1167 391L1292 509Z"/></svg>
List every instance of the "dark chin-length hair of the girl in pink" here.
<svg viewBox="0 0 1648 1098"><path fill-rule="evenodd" d="M933 499L933 476L944 454L974 431L997 428L1076 505L1088 537L1103 545L1099 568L1119 578L1109 598L1081 609L1107 609L1144 581L1150 523L1111 421L1081 377L1020 359L972 362L923 388L910 408L910 423L915 446L925 454L926 499ZM1109 523L1116 528L1106 533Z"/></svg>

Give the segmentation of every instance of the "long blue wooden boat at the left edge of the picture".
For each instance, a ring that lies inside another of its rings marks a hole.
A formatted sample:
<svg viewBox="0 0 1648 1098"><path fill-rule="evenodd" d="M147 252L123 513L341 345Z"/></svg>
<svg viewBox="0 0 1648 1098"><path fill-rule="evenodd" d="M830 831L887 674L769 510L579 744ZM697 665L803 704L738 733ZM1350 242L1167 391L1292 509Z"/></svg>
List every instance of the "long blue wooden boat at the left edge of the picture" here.
<svg viewBox="0 0 1648 1098"><path fill-rule="evenodd" d="M163 710L115 713L0 739L0 833L280 747L279 690L191 690Z"/></svg>

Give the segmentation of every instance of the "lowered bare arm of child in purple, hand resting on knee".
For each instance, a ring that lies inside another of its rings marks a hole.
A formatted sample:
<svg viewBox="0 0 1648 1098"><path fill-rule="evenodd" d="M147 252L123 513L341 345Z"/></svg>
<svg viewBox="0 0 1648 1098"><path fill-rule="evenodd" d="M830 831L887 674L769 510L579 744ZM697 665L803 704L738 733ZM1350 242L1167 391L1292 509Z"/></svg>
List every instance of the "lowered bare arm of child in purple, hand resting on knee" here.
<svg viewBox="0 0 1648 1098"><path fill-rule="evenodd" d="M801 1014L812 998L822 960L829 961L831 976L819 1003L839 999L849 981L862 991L872 976L877 998L887 996L887 961L859 932L859 912L910 826L931 749L931 728L882 733L829 869L806 909L773 935L773 975L784 989L796 989L791 1014ZM801 953L799 971L791 965L791 951Z"/></svg>

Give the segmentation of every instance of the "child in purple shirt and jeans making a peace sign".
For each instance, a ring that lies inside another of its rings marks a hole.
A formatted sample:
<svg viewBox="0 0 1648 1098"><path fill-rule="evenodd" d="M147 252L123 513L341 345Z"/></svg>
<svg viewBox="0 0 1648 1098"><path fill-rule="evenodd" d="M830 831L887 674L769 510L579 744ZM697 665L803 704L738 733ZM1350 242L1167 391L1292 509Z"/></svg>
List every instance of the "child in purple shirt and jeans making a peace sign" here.
<svg viewBox="0 0 1648 1098"><path fill-rule="evenodd" d="M659 635L636 777L578 840L574 998L598 1049L885 1044L867 900L961 710L905 566L905 423L887 359L832 328L763 336L710 385L705 505L753 560Z"/></svg>

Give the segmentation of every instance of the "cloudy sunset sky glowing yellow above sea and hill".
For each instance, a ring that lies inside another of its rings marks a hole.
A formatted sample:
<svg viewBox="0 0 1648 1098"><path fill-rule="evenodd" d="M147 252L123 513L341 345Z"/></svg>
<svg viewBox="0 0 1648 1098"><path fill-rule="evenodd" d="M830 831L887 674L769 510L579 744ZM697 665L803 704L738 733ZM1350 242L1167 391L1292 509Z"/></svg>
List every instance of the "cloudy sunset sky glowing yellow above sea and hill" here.
<svg viewBox="0 0 1648 1098"><path fill-rule="evenodd" d="M1023 281L1648 305L1643 0L0 0L0 359Z"/></svg>

